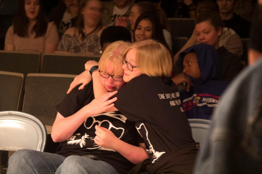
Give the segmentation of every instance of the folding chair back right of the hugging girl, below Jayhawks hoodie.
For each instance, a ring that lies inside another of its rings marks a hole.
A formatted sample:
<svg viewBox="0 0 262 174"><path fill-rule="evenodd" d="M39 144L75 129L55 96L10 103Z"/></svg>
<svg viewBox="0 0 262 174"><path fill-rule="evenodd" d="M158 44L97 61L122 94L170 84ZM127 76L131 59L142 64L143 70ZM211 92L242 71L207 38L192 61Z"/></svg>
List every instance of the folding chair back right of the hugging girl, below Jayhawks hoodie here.
<svg viewBox="0 0 262 174"><path fill-rule="evenodd" d="M199 142L200 146L203 146L206 142L208 132L210 129L210 120L206 119L188 119L188 122L192 129L192 136L195 142Z"/></svg>

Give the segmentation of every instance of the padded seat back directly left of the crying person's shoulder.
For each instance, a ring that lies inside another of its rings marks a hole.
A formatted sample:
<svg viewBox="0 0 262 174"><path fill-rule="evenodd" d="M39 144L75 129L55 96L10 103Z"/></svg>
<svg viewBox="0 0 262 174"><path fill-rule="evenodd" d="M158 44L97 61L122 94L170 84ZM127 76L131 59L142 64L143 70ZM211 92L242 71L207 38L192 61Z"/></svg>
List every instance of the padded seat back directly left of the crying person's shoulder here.
<svg viewBox="0 0 262 174"><path fill-rule="evenodd" d="M45 125L52 126L56 106L66 96L76 75L30 73L27 75L22 111L35 115Z"/></svg>

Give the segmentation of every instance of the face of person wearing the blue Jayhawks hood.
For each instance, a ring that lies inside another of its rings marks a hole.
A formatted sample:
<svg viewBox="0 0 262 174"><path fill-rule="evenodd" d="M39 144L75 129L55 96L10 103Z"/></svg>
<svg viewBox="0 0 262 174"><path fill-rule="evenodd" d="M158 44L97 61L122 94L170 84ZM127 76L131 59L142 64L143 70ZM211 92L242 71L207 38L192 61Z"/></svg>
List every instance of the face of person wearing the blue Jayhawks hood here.
<svg viewBox="0 0 262 174"><path fill-rule="evenodd" d="M201 78L201 72L195 52L189 52L185 55L183 59L183 67L184 74L190 75L194 79Z"/></svg>

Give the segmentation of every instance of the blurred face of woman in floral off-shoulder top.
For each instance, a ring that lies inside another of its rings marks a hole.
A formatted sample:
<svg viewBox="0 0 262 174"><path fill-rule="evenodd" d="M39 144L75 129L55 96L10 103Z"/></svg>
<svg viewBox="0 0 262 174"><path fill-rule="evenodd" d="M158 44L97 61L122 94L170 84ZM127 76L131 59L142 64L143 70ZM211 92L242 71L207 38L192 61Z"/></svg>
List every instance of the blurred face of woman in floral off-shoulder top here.
<svg viewBox="0 0 262 174"><path fill-rule="evenodd" d="M96 27L102 17L102 2L97 0L89 0L82 9L81 14L83 14L84 22L89 27Z"/></svg>

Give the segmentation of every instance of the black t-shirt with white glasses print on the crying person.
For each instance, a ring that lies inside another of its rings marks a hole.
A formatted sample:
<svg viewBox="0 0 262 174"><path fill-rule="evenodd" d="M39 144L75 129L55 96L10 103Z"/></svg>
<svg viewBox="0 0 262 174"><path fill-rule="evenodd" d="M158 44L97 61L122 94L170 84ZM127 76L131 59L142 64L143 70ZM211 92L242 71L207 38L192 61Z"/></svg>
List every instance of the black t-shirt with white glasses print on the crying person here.
<svg viewBox="0 0 262 174"><path fill-rule="evenodd" d="M94 99L92 81L83 90L78 90L78 87L74 88L57 106L58 112L63 117L73 115ZM100 157L102 161L113 166L118 173L127 173L134 164L118 152L95 144L93 140L95 137L95 125L98 124L111 130L124 142L135 146L138 145L138 142L141 142L137 140L140 136L137 134L133 122L128 121L119 111L108 112L88 117L67 141L60 143L56 153L67 157L70 155L82 156L86 152L91 152Z"/></svg>

